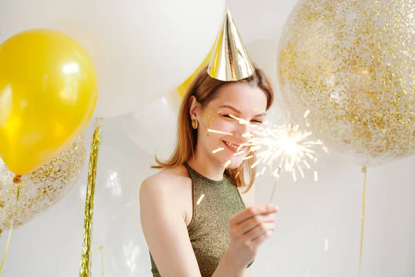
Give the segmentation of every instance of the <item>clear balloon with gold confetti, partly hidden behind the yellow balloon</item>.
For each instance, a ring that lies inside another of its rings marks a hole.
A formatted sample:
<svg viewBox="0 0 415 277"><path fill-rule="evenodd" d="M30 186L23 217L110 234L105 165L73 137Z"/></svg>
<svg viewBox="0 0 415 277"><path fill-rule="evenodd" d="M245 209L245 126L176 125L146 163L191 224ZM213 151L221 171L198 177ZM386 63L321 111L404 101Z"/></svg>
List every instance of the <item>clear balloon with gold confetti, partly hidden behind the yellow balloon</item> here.
<svg viewBox="0 0 415 277"><path fill-rule="evenodd" d="M23 175L21 184L13 182L15 174L0 160L0 230L10 228L13 220L16 228L62 199L75 186L84 162L83 135L58 157Z"/></svg>

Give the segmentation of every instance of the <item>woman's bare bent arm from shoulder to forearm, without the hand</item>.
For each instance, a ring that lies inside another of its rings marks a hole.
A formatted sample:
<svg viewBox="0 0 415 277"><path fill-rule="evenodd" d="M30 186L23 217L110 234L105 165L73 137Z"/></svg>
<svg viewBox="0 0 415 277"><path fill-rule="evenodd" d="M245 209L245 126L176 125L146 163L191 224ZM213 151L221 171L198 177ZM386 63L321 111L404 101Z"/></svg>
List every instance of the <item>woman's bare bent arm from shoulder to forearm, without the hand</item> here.
<svg viewBox="0 0 415 277"><path fill-rule="evenodd" d="M153 176L140 188L140 217L151 256L162 277L201 276L199 265L187 226L183 209L175 202L177 191L172 179ZM245 277L246 269L234 266L233 257L227 252L212 277Z"/></svg>

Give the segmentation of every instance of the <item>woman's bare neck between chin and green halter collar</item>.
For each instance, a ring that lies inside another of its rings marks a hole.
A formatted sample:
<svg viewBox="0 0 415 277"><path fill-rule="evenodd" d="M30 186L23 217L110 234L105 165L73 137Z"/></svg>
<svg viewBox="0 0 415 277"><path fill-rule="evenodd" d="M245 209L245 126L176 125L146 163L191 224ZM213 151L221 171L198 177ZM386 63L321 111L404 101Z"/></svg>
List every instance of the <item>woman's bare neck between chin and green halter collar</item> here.
<svg viewBox="0 0 415 277"><path fill-rule="evenodd" d="M221 181L223 179L223 172L225 172L223 165L217 161L213 161L212 157L200 150L197 146L193 157L187 160L187 164L209 179L214 181Z"/></svg>

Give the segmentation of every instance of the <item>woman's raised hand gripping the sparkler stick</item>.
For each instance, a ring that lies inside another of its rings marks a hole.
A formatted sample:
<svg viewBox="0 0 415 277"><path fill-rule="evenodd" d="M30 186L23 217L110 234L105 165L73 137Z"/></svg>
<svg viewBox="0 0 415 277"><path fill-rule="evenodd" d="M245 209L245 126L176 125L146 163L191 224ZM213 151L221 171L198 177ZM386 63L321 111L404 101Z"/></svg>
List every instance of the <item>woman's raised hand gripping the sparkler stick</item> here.
<svg viewBox="0 0 415 277"><path fill-rule="evenodd" d="M245 269L255 259L259 245L270 238L275 228L272 204L246 208L229 220L230 243L225 253L236 267Z"/></svg>

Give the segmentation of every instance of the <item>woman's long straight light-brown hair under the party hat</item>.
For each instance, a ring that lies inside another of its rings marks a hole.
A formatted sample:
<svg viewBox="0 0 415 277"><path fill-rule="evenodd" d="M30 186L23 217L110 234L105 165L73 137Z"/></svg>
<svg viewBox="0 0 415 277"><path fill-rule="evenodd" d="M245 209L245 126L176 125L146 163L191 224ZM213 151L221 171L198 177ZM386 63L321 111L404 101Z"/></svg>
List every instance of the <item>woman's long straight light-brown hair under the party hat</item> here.
<svg viewBox="0 0 415 277"><path fill-rule="evenodd" d="M189 89L187 89L187 93L183 97L181 109L178 114L178 129L174 152L169 157L169 159L167 159L167 161L160 161L160 159L158 159L156 156L156 163L158 163L158 165L151 166L151 168L176 168L177 166L181 166L183 163L185 163L185 161L187 161L190 157L193 157L197 143L197 129L192 128L192 120L190 120L189 114L191 102L190 98L192 96L196 97L196 100L199 102L201 107L206 107L210 101L216 98L221 87L225 86L226 84L239 82L259 87L259 89L264 91L267 97L267 110L271 107L271 105L273 105L273 89L269 79L261 69L255 67L255 73L250 75L250 77L234 82L224 82L211 78L207 73L207 69L208 66L199 72L199 74L193 80L192 84L190 84ZM252 187L255 179L255 168L251 168L253 163L255 163L255 159L248 159L238 168L227 168L225 170L225 174L235 180L237 187L246 187L247 192ZM246 179L247 173L249 181Z"/></svg>

